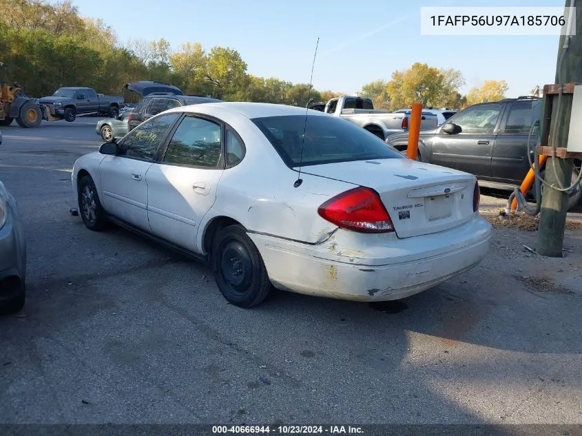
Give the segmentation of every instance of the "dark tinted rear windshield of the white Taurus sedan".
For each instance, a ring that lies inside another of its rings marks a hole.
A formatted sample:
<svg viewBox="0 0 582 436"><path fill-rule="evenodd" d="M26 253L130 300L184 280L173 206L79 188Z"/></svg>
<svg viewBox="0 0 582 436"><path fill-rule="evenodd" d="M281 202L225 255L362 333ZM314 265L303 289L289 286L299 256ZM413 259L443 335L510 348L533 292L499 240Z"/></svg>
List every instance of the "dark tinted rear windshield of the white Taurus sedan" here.
<svg viewBox="0 0 582 436"><path fill-rule="evenodd" d="M320 165L352 160L404 158L382 139L334 116L267 116L253 118L252 121L291 168L298 167L300 161L301 165Z"/></svg>

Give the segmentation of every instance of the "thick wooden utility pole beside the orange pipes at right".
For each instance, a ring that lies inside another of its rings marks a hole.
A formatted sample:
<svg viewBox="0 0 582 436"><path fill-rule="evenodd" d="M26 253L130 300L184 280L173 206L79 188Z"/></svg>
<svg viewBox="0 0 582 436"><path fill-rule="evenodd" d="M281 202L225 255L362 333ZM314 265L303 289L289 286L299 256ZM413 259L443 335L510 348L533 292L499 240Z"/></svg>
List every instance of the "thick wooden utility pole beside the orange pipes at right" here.
<svg viewBox="0 0 582 436"><path fill-rule="evenodd" d="M570 0L566 0L565 7L570 7ZM582 0L574 0L574 7L576 8L576 32L574 36L570 37L570 46L565 52L561 66L559 65L559 61L566 36L562 35L560 37L555 81L559 86L565 83L582 83ZM567 14L564 19L568 23ZM559 68L561 68L561 74ZM548 105L548 100L552 98L554 103L556 103L552 105L549 132L544 132L543 123L545 120L541 121L542 141L545 141L546 138L549 141L546 144L550 146L555 145L556 147L566 147L568 145L568 130L570 129L570 112L572 110L573 97L573 93L562 94L558 114L558 96L552 96L544 92L543 100L545 105ZM554 138L554 132L556 139L555 143L552 144L551 141ZM545 134L548 135L546 136ZM548 157L545 163L545 181L556 187L560 187L560 185L563 187L570 186L572 184L573 163L574 161L571 158ZM554 258L562 256L567 212L568 194L552 189L549 186L543 187L536 246L536 252L539 255Z"/></svg>

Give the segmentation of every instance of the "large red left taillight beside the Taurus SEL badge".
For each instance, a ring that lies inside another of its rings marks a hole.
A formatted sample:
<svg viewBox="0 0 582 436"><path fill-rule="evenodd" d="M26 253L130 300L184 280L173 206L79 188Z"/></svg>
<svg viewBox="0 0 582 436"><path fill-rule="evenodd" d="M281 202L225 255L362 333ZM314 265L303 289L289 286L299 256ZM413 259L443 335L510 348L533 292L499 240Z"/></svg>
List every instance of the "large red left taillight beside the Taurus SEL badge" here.
<svg viewBox="0 0 582 436"><path fill-rule="evenodd" d="M327 200L318 209L324 220L363 233L394 231L388 211L376 191L357 187Z"/></svg>

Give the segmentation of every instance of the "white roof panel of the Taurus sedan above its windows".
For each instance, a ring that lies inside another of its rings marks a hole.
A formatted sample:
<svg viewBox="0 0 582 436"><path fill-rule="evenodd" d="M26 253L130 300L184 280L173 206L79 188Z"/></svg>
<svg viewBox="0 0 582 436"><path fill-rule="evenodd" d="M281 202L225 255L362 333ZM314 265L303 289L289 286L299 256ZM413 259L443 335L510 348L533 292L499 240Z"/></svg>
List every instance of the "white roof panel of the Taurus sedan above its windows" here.
<svg viewBox="0 0 582 436"><path fill-rule="evenodd" d="M251 103L242 101L222 101L220 103L203 103L199 105L188 105L174 107L167 112L191 112L204 113L208 115L220 114L220 112L230 112L239 114L247 118L264 118L267 116L305 116L306 109L298 106L278 105L274 103ZM331 116L318 110L309 110L309 115L313 116Z"/></svg>

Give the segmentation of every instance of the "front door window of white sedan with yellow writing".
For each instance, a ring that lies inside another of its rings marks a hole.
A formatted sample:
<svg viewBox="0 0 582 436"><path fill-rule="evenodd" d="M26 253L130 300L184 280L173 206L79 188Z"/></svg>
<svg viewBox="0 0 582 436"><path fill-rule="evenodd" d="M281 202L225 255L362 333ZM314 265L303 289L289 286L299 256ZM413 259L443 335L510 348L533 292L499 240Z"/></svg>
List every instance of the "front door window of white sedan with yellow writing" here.
<svg viewBox="0 0 582 436"><path fill-rule="evenodd" d="M158 147L166 137L169 127L180 114L165 114L151 118L133 129L123 141L119 156L127 156L141 160L153 160Z"/></svg>

